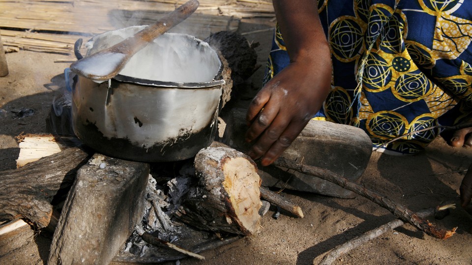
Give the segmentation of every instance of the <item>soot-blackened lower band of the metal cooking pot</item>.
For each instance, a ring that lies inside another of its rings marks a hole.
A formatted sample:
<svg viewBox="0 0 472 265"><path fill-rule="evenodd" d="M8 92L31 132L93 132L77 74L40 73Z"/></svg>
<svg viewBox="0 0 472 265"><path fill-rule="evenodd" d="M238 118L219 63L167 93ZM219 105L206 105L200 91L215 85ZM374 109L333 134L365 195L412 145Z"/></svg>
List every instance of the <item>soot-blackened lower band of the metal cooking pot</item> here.
<svg viewBox="0 0 472 265"><path fill-rule="evenodd" d="M189 159L207 148L216 135L216 123L200 132L187 132L150 148L137 146L128 139L108 138L94 124L76 124L74 132L87 146L103 155L140 162L169 162Z"/></svg>

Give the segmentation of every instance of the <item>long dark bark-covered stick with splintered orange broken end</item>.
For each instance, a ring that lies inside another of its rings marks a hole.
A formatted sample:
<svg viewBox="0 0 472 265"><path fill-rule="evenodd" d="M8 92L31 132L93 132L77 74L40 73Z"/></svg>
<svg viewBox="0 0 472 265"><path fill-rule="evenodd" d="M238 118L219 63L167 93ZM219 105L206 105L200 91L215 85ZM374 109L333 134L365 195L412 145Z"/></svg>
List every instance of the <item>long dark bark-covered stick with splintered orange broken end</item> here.
<svg viewBox="0 0 472 265"><path fill-rule="evenodd" d="M395 203L394 201L382 196L381 194L375 191L368 190L361 185L351 182L329 170L325 170L319 167L304 165L301 163L296 163L294 161L284 159L284 158L279 158L275 160L273 164L276 166L290 168L303 174L315 176L315 177L327 180L329 182L335 183L337 185L340 185L351 191L354 191L355 193L377 203L378 205L382 206L383 208L387 209L388 211L398 216L400 219L414 225L415 227L424 231L426 234L432 237L446 239L455 234L456 228L452 230L437 229L429 221L424 220L423 218L421 218L420 216L418 216L416 213L412 212L408 208Z"/></svg>

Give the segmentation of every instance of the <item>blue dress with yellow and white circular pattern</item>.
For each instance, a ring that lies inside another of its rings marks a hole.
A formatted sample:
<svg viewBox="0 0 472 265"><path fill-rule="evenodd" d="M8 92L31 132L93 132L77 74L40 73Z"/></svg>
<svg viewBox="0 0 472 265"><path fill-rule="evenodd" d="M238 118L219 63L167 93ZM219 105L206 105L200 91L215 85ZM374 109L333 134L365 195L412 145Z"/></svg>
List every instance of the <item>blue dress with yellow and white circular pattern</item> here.
<svg viewBox="0 0 472 265"><path fill-rule="evenodd" d="M414 154L472 111L472 0L319 0L331 91L316 119L363 129L384 152ZM275 28L267 82L289 63Z"/></svg>

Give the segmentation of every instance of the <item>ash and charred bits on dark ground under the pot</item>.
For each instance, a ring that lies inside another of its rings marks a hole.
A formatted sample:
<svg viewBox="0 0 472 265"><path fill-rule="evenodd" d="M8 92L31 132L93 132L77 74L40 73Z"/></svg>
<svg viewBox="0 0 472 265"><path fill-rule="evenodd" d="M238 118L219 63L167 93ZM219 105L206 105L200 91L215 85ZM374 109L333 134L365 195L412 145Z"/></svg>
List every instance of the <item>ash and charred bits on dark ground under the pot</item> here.
<svg viewBox="0 0 472 265"><path fill-rule="evenodd" d="M136 230L119 250L114 261L160 263L187 258L188 255L166 247L165 242L178 245L192 253L200 253L234 242L241 236L235 234L212 233L193 228L180 222L174 214L182 205L183 197L197 177L193 161L168 163L167 168L151 170L145 195L143 219L136 225ZM178 168L178 169L176 169ZM168 176L174 176L172 178ZM154 245L148 241L158 243ZM153 237L157 240L149 239Z"/></svg>

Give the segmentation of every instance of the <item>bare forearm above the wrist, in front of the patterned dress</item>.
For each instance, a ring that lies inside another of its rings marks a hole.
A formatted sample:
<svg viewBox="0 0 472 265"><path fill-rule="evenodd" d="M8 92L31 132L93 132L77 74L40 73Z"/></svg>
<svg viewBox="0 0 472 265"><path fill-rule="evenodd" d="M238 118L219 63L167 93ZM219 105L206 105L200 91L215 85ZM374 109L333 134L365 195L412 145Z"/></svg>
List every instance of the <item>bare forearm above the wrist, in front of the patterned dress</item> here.
<svg viewBox="0 0 472 265"><path fill-rule="evenodd" d="M329 61L329 46L318 16L317 1L273 0L273 5L290 59L324 56Z"/></svg>

